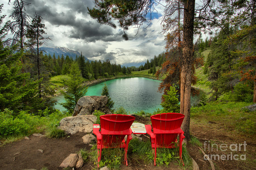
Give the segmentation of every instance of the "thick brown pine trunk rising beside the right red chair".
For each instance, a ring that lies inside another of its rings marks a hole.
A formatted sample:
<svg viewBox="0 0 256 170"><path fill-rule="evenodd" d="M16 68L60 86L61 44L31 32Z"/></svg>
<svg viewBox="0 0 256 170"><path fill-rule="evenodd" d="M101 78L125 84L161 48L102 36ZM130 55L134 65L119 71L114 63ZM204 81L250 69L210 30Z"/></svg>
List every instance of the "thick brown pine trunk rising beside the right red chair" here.
<svg viewBox="0 0 256 170"><path fill-rule="evenodd" d="M193 62L193 30L195 0L184 1L183 51L181 60L180 113L185 115L181 125L187 140L190 139L190 93Z"/></svg>

